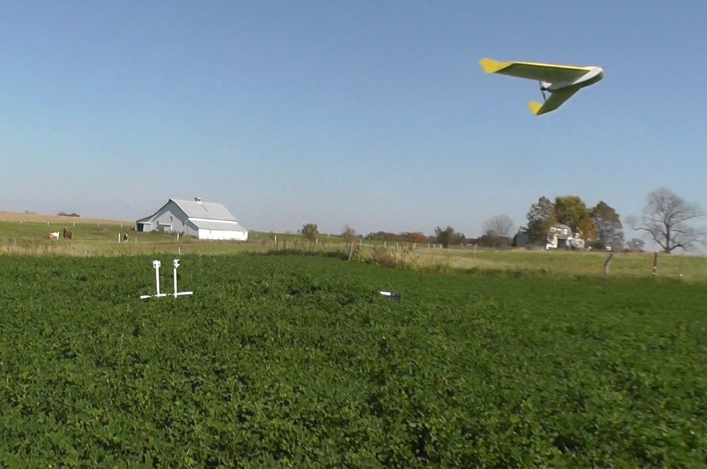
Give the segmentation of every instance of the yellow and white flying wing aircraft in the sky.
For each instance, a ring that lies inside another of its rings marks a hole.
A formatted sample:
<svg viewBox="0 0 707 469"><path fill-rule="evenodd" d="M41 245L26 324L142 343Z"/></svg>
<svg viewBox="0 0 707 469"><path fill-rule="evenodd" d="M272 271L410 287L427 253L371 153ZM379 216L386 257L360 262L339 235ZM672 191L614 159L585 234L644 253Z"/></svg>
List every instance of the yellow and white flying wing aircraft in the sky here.
<svg viewBox="0 0 707 469"><path fill-rule="evenodd" d="M550 97L544 103L530 103L534 115L541 115L556 110L574 93L585 86L593 85L604 78L604 69L600 66L571 66L541 64L537 62L496 62L492 59L479 61L488 74L516 76L540 82L543 98L545 91Z"/></svg>

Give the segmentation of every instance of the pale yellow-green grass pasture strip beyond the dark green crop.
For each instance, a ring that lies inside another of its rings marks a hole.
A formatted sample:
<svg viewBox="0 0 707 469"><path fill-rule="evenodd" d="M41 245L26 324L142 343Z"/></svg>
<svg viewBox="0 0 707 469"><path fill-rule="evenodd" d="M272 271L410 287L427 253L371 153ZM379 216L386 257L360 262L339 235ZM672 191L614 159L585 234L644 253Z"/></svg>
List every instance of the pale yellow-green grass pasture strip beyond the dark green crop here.
<svg viewBox="0 0 707 469"><path fill-rule="evenodd" d="M81 219L68 216L10 214L0 212L0 254L124 256L156 254L233 255L271 253L279 250L313 250L317 253L345 253L345 243L338 237L322 237L321 243L308 245L294 234L278 234L278 242L269 241L270 233L251 231L249 241L199 241L165 233L136 233L128 221ZM46 241L50 231L66 227L74 239ZM127 242L118 242L121 233L129 233ZM374 250L385 250L400 266L413 269L461 270L473 272L515 272L539 276L602 277L607 253L527 250L474 250L429 248L428 245L363 241L359 260L373 260ZM609 265L612 277L651 277L653 253L616 253ZM660 255L658 277L686 282L707 282L707 257Z"/></svg>

